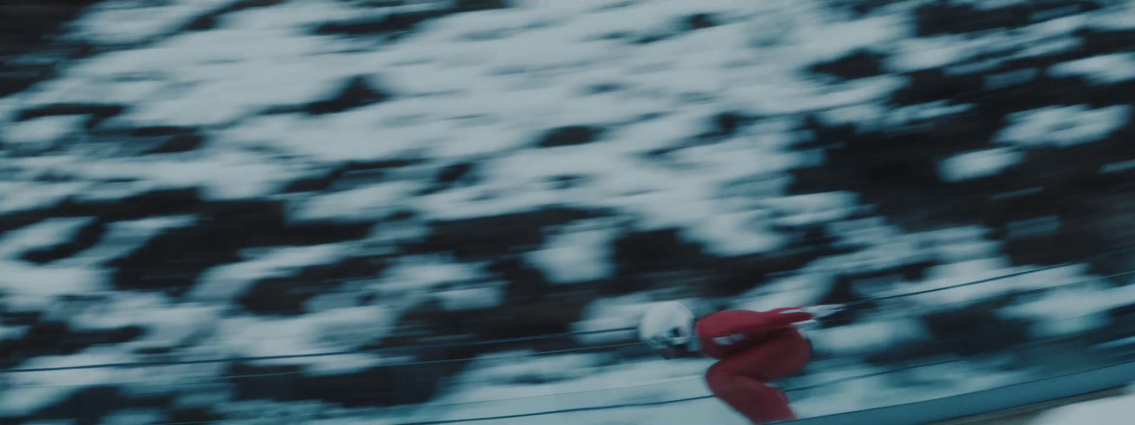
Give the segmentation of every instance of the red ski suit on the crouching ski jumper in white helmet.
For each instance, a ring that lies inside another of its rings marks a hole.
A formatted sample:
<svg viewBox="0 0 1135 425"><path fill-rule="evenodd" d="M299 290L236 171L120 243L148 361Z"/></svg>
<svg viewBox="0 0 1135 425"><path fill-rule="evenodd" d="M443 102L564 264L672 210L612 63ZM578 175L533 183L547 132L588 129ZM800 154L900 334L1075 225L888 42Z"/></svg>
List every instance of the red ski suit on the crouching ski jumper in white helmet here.
<svg viewBox="0 0 1135 425"><path fill-rule="evenodd" d="M808 363L812 345L792 324L812 318L799 308L728 309L701 317L696 329L701 354L721 360L706 372L709 390L755 425L796 419L788 397L766 383Z"/></svg>

